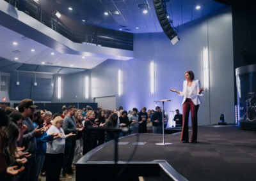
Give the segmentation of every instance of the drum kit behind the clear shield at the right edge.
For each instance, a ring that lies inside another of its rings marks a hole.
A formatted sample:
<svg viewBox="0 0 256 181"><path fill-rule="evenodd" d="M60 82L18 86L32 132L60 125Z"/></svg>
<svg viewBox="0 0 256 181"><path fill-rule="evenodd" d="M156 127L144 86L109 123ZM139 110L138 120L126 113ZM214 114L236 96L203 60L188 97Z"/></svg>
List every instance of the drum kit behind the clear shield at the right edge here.
<svg viewBox="0 0 256 181"><path fill-rule="evenodd" d="M248 92L249 98L246 99L246 116L247 120L256 120L256 94L255 92Z"/></svg>

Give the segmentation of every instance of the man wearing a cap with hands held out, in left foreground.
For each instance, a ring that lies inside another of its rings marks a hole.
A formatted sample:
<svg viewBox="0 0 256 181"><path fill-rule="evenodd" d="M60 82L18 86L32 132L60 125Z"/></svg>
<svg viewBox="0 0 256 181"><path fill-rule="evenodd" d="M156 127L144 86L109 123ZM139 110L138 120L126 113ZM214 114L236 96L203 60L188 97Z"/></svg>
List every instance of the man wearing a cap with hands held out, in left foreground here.
<svg viewBox="0 0 256 181"><path fill-rule="evenodd" d="M24 124L28 127L27 130L24 132L23 140L22 140L22 147L24 146L26 150L24 152L29 152L31 157L27 158L28 162L24 165L25 170L23 171L20 180L35 180L36 177L36 136L44 133L46 131L45 127L41 129L36 129L33 126L33 122L29 117L33 115L36 105L34 105L32 99L23 99L20 101L18 106L19 112L22 114L24 119Z"/></svg>

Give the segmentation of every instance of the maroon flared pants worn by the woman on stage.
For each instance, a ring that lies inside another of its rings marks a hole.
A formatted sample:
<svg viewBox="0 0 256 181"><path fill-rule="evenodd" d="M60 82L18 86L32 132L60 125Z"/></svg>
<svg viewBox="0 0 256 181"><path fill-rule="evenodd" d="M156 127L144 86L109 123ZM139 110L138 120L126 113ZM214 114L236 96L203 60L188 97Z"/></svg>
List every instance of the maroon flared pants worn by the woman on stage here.
<svg viewBox="0 0 256 181"><path fill-rule="evenodd" d="M198 112L199 105L194 105L191 99L186 99L185 103L182 106L183 111L183 125L182 125L182 132L180 135L181 141L188 141L188 117L189 111L191 110L191 121L192 121L192 135L190 141L197 140L197 112Z"/></svg>

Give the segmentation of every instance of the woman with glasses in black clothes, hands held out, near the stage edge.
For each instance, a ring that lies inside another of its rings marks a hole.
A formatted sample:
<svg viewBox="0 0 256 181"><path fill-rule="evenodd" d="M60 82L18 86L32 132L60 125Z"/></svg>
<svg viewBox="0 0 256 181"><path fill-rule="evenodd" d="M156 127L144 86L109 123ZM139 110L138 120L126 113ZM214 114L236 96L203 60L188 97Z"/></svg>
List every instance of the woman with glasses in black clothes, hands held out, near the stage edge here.
<svg viewBox="0 0 256 181"><path fill-rule="evenodd" d="M102 123L99 124L102 126ZM97 136L99 131L90 130L90 127L99 127L95 122L95 112L90 110L86 113L86 119L84 122L84 150L83 154L90 152L93 148L97 147Z"/></svg>

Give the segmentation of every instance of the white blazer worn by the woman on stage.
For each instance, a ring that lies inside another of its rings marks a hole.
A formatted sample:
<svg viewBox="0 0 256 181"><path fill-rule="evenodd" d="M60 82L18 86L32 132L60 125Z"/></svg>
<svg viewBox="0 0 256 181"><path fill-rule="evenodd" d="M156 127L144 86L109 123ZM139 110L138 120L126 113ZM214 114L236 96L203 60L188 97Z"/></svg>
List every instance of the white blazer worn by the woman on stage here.
<svg viewBox="0 0 256 181"><path fill-rule="evenodd" d="M180 92L179 96L184 96L183 101L182 101L182 105L184 104L184 102L186 101L186 92L188 89L188 81L184 80L183 82L183 91ZM200 81L199 80L193 80L192 82L192 86L191 86L191 92L190 92L190 98L193 101L194 105L200 105L202 102L199 98L199 96L203 96L203 94L198 94L200 89Z"/></svg>

